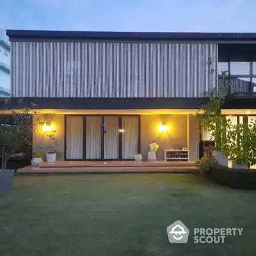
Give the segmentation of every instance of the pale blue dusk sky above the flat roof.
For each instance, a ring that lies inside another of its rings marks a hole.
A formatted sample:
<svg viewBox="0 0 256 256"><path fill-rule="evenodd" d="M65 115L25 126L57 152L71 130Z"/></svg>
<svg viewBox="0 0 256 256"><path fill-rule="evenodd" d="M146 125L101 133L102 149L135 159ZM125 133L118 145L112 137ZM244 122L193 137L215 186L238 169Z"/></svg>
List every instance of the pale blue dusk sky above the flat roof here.
<svg viewBox="0 0 256 256"><path fill-rule="evenodd" d="M0 28L255 32L255 0L1 0Z"/></svg>

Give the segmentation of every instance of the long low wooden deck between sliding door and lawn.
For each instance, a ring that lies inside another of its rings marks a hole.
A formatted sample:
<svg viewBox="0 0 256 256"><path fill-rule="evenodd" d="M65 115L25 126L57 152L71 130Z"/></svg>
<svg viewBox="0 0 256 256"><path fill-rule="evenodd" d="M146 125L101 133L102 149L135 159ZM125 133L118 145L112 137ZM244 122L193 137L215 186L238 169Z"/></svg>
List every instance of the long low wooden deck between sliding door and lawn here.
<svg viewBox="0 0 256 256"><path fill-rule="evenodd" d="M132 173L132 172L196 172L194 162L136 161L58 161L26 166L17 173Z"/></svg>

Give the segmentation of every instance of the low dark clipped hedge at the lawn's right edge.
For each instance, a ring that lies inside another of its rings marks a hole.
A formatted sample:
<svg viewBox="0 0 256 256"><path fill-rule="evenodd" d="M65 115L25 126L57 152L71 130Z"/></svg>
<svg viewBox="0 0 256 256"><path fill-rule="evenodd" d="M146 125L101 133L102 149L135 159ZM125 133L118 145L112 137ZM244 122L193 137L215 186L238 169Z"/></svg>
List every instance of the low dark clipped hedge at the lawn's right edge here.
<svg viewBox="0 0 256 256"><path fill-rule="evenodd" d="M206 176L210 180L214 180L215 182L230 188L256 190L255 170L232 169L225 166L214 166L211 167Z"/></svg>

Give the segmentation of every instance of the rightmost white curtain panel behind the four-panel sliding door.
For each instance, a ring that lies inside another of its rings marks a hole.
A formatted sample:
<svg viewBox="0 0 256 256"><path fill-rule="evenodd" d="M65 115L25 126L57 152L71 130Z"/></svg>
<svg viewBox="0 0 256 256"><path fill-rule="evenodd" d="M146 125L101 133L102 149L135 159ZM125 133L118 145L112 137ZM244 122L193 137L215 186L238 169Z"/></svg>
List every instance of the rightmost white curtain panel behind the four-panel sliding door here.
<svg viewBox="0 0 256 256"><path fill-rule="evenodd" d="M134 159L138 154L139 118L138 116L122 117L122 158Z"/></svg>

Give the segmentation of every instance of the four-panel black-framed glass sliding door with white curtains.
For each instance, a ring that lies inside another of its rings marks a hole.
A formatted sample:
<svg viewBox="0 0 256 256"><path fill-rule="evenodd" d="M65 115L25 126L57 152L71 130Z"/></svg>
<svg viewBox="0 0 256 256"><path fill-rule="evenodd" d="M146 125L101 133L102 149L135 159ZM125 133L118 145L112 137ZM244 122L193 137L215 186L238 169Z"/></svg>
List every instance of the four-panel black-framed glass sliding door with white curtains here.
<svg viewBox="0 0 256 256"><path fill-rule="evenodd" d="M65 159L134 159L139 150L140 116L65 116Z"/></svg>

